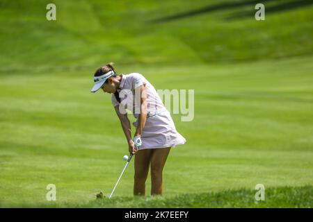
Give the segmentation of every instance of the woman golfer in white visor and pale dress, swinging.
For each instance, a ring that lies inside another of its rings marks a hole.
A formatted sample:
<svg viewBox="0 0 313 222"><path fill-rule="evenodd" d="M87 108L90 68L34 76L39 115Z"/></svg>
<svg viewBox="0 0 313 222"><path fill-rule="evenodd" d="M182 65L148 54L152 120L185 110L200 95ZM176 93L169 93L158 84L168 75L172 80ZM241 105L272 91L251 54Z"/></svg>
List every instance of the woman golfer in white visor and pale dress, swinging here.
<svg viewBox="0 0 313 222"><path fill-rule="evenodd" d="M120 119L129 145L135 155L134 195L145 195L145 181L151 166L151 195L163 191L162 171L170 148L184 144L154 87L138 73L115 73L113 63L97 69L95 85L91 92L102 89L112 94L111 101ZM131 137L131 125L127 117L130 110L137 119L136 133Z"/></svg>

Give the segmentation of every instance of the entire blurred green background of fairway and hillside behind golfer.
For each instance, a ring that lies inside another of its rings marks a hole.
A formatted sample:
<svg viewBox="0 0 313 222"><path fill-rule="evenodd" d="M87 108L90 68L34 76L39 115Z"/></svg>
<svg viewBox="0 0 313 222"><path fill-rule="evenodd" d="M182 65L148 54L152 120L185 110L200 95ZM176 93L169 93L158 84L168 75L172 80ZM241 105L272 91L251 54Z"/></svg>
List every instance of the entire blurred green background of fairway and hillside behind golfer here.
<svg viewBox="0 0 313 222"><path fill-rule="evenodd" d="M265 21L257 3L1 0L0 206L95 207L97 192L110 194L128 146L110 96L90 88L95 69L115 62L156 89L195 89L193 121L172 114L187 139L163 173L169 203L186 194L173 206L210 207L193 194L211 191L236 203L214 206L241 206L236 190L261 183L299 190L284 193L288 206L312 207L313 3L262 1ZM129 196L123 207L140 202L131 202L133 168L115 191ZM262 206L279 207L279 192Z"/></svg>

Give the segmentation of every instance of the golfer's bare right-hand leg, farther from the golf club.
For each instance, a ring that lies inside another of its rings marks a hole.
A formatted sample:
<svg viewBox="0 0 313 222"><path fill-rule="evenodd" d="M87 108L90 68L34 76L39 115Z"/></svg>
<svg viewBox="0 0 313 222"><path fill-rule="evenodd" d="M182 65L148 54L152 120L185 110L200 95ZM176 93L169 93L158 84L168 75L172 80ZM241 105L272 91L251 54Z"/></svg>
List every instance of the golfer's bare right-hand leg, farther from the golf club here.
<svg viewBox="0 0 313 222"><path fill-rule="evenodd" d="M151 195L162 195L163 192L163 167L170 153L170 147L154 148L151 158Z"/></svg>

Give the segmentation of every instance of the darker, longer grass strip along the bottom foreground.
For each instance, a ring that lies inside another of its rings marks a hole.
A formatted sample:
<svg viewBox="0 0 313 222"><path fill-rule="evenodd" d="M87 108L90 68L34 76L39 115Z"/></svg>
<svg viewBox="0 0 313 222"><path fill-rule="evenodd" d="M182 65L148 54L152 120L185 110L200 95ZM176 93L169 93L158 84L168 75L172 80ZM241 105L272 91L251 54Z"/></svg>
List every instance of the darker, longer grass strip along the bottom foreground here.
<svg viewBox="0 0 313 222"><path fill-rule="evenodd" d="M219 192L179 194L172 197L163 196L118 196L109 199L108 196L94 200L82 200L79 203L39 202L22 203L21 207L93 207L93 208L290 208L313 207L312 186L305 187L271 187L265 189L264 200L255 200L255 190L238 189ZM0 203L1 207L1 203ZM12 205L15 207L15 205Z"/></svg>

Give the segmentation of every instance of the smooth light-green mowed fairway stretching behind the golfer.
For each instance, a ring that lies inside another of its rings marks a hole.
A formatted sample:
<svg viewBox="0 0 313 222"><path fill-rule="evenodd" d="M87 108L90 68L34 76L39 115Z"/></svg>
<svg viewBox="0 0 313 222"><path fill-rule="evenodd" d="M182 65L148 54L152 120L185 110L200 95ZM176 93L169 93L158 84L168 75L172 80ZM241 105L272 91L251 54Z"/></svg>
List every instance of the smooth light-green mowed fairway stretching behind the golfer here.
<svg viewBox="0 0 313 222"><path fill-rule="evenodd" d="M253 190L261 183L309 185L305 196L312 200L312 64L312 58L297 58L202 65L193 67L192 75L190 67L119 67L122 73L141 72L158 89L195 89L193 121L173 115L187 143L172 148L168 157L165 198ZM48 184L56 185L51 206L58 207L88 206L100 190L111 192L127 144L110 96L89 92L91 71L1 75L3 207L49 206ZM131 162L115 196L132 196L133 167ZM247 200L250 207L254 194Z"/></svg>

